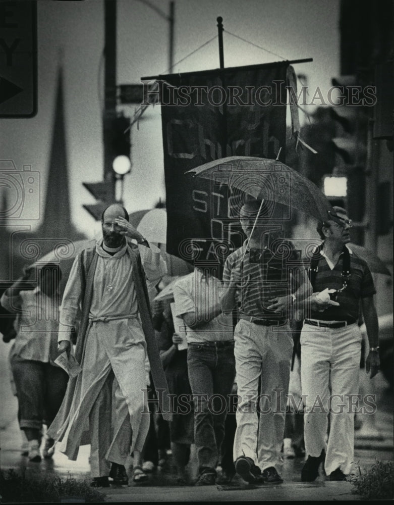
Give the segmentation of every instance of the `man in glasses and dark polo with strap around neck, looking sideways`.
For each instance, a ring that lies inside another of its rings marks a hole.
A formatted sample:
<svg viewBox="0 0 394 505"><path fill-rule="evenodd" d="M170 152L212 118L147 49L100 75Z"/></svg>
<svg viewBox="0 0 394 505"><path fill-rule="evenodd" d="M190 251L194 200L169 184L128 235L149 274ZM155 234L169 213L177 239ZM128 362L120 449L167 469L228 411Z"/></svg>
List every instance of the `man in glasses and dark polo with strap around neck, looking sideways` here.
<svg viewBox="0 0 394 505"><path fill-rule="evenodd" d="M304 437L308 454L301 479L306 482L316 479L323 461L329 480L346 480L351 470L362 340L357 324L360 300L370 345L366 370L371 371L371 378L379 370L372 275L366 262L346 245L351 227L346 211L340 207L334 207L334 211L336 216L319 223L317 228L324 241L311 260L314 293L301 333ZM335 306L329 298L336 300ZM328 413L330 433L326 447Z"/></svg>

